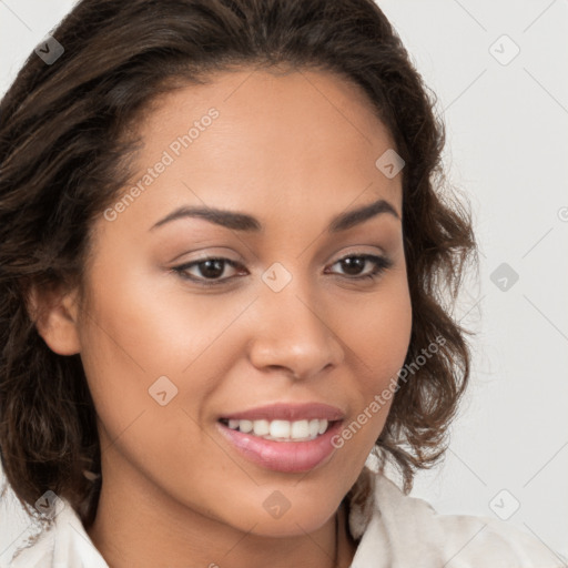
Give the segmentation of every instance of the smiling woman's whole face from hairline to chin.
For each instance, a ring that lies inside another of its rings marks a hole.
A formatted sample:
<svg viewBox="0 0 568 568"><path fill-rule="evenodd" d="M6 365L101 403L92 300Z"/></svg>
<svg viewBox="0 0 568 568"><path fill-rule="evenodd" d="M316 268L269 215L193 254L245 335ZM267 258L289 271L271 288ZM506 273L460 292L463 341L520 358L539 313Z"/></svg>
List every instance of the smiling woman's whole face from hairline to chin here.
<svg viewBox="0 0 568 568"><path fill-rule="evenodd" d="M315 530L381 434L390 402L372 403L409 343L402 174L376 165L394 143L357 88L315 71L220 73L136 126L77 314L103 487L257 535Z"/></svg>

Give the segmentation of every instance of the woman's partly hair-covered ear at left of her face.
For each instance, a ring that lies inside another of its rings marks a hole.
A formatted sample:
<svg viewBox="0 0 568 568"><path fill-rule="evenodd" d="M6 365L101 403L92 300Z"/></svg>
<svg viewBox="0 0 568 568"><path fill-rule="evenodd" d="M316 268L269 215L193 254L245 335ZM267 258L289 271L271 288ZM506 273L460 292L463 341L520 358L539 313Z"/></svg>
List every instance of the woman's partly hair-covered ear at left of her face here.
<svg viewBox="0 0 568 568"><path fill-rule="evenodd" d="M37 285L28 294L28 312L49 348L59 355L81 351L78 332L78 291Z"/></svg>

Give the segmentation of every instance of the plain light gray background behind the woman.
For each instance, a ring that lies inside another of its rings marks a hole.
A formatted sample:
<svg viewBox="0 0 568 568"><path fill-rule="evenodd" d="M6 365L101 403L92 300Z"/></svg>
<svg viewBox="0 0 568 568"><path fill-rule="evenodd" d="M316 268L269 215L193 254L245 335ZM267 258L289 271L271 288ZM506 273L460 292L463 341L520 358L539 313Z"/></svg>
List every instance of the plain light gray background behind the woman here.
<svg viewBox="0 0 568 568"><path fill-rule="evenodd" d="M481 245L456 313L478 332L471 387L445 463L413 495L442 514L508 517L566 560L568 1L378 3L438 95L445 162ZM0 0L2 94L72 4ZM507 291L491 281L501 263L519 276Z"/></svg>

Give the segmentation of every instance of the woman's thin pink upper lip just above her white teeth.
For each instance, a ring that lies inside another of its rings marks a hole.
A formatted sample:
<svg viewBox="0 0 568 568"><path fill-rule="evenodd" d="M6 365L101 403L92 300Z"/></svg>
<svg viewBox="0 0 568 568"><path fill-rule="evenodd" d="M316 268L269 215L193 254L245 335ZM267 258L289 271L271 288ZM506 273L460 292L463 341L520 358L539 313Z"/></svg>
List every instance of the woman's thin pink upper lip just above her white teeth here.
<svg viewBox="0 0 568 568"><path fill-rule="evenodd" d="M266 406L250 408L221 416L232 420L311 420L314 418L329 422L342 420L345 417L343 410L336 406L323 403L285 404L277 403Z"/></svg>

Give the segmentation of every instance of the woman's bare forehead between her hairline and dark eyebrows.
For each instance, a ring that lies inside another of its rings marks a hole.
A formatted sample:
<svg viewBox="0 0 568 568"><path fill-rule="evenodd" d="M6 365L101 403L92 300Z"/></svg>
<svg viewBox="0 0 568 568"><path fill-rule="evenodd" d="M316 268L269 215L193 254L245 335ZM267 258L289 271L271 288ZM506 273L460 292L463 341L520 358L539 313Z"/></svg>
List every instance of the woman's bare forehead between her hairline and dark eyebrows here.
<svg viewBox="0 0 568 568"><path fill-rule="evenodd" d="M329 200L346 207L365 193L373 195L363 201L381 196L402 209L400 176L387 179L375 164L394 148L392 136L363 90L342 75L217 72L153 101L136 126L143 148L132 182L164 152L171 158L144 195L159 209L158 200L186 199L324 210Z"/></svg>

